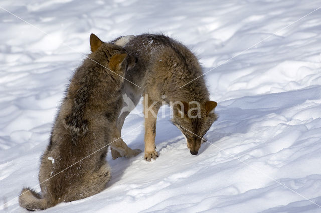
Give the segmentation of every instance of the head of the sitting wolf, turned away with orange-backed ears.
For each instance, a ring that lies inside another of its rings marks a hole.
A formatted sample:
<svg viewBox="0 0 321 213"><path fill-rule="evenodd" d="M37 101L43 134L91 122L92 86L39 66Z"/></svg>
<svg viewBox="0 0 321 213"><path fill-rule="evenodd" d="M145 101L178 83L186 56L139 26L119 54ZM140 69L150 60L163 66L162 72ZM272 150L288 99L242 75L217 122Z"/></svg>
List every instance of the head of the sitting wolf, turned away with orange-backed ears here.
<svg viewBox="0 0 321 213"><path fill-rule="evenodd" d="M103 42L93 33L90 35L90 50L96 62L117 74L123 74L131 69L137 61L134 56L129 56L122 47Z"/></svg>

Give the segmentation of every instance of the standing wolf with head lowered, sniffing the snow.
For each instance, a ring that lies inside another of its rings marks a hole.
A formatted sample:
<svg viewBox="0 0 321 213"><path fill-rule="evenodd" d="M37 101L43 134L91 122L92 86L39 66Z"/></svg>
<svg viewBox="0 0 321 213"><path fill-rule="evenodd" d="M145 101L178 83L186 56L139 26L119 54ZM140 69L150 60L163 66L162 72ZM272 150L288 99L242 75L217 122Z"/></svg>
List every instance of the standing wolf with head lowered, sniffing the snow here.
<svg viewBox="0 0 321 213"><path fill-rule="evenodd" d="M125 82L124 93L134 105L138 104L142 94L146 94L144 158L150 161L158 157L155 149L156 115L162 103L178 103L173 104L172 122L186 137L191 154L196 155L202 137L217 119L214 113L217 103L209 100L204 79L199 77L202 69L197 58L187 47L164 35L125 36L113 42L138 59L135 68L128 71L125 78L141 88ZM120 115L117 121L119 131L128 114ZM113 158L122 156L115 150L112 155Z"/></svg>

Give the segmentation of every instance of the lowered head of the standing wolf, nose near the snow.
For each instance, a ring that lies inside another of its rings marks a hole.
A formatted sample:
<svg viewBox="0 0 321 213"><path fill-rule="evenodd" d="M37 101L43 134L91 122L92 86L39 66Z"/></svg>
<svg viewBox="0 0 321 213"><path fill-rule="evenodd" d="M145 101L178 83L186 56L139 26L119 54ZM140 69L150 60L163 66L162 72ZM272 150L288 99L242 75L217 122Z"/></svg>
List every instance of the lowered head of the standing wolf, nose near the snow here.
<svg viewBox="0 0 321 213"><path fill-rule="evenodd" d="M198 153L203 136L217 120L217 115L214 113L216 106L215 101L205 103L182 101L173 105L172 122L185 136L192 155Z"/></svg>

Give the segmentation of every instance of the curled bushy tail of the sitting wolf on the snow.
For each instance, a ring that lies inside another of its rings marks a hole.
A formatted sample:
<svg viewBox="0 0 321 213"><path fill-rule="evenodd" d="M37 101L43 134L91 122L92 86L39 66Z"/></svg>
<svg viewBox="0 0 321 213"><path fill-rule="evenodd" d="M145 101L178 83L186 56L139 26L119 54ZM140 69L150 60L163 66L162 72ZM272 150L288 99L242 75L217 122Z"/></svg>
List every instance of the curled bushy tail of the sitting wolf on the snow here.
<svg viewBox="0 0 321 213"><path fill-rule="evenodd" d="M44 210L47 207L47 200L41 198L40 194L31 190L30 188L24 188L19 196L19 204L21 207L26 208L29 211Z"/></svg>

